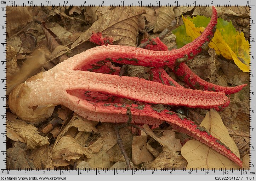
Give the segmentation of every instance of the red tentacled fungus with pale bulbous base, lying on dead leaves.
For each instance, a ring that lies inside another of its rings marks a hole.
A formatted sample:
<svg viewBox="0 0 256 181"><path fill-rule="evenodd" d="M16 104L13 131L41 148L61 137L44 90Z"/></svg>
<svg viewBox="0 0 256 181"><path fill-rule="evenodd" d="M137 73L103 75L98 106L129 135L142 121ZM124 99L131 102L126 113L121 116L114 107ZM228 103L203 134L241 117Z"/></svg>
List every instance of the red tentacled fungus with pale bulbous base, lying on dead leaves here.
<svg viewBox="0 0 256 181"><path fill-rule="evenodd" d="M153 51L118 45L103 45L86 50L17 86L9 96L9 107L18 117L34 124L50 117L54 106L58 104L88 120L113 123L126 123L126 108L129 107L132 124L148 124L154 128L166 121L174 129L210 146L241 167L241 160L205 129L200 129L193 121L178 113L156 110L150 104L221 110L229 104L226 94L238 92L245 85L224 89L212 88L210 85L210 90L219 92L192 90L163 84L159 79L148 81L137 77L119 77L120 68L112 65L114 62L154 67L155 70L152 70L158 76L163 75L163 78L159 76L163 81L168 81L166 74L159 73L161 69L157 72L158 68L167 65L178 75L182 74L186 70L186 67L182 67L186 64L182 62L192 59L210 42L216 24L217 12L213 7L211 21L201 36L177 50ZM185 81L189 79L189 74L183 74ZM193 81L190 81L192 87L197 82L204 85L204 82L193 77ZM209 86L199 87L209 90ZM122 102L123 98L141 103L127 104Z"/></svg>

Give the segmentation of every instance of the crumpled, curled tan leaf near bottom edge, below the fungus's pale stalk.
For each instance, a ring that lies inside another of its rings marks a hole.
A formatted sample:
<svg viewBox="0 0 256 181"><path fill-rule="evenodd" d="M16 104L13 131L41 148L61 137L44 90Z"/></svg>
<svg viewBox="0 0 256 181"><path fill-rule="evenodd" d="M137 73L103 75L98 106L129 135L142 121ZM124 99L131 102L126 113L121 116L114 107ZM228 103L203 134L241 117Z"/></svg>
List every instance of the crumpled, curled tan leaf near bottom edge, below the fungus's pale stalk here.
<svg viewBox="0 0 256 181"><path fill-rule="evenodd" d="M87 148L81 146L71 136L62 136L52 149L53 165L67 166L73 161L86 156L91 158Z"/></svg>

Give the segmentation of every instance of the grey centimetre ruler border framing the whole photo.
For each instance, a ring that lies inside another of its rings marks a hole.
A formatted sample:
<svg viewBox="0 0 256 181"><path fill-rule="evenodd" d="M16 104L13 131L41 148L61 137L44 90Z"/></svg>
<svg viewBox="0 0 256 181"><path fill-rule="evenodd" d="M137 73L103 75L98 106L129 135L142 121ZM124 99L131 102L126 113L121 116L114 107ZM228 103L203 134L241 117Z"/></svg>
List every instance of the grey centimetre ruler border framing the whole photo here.
<svg viewBox="0 0 256 181"><path fill-rule="evenodd" d="M91 175L112 175L112 176L119 176L119 175L172 175L171 179L179 179L180 176L190 176L189 179L196 179L196 180L254 180L256 179L256 128L254 121L256 120L256 36L254 30L256 30L256 2L245 0L245 1L238 1L238 0L225 0L224 2L221 0L8 0L8 1L0 1L1 6L1 14L0 14L0 43L1 43L1 70L0 71L0 79L1 79L1 107L0 107L0 115L2 123L0 124L0 133L1 133L1 157L0 161L0 175L1 180L10 180L11 177L18 177L20 176L21 179L18 180L25 180L24 178L33 178L35 180L40 180L41 177L48 177L48 178L65 178L66 180L69 179L85 179L84 176L91 176ZM223 6L223 7L249 7L250 8L250 50L249 55L251 59L250 63L250 169L144 169L144 170L129 170L129 169L75 169L75 170L7 170L6 169L6 7L13 7L13 6L93 6L93 7L102 7L102 6L183 6L183 7L193 7L193 6ZM195 177L199 176L200 177ZM73 177L77 176L77 177ZM177 176L177 177L176 177ZM169 176L170 177L170 176ZM186 177L188 178L188 177Z"/></svg>

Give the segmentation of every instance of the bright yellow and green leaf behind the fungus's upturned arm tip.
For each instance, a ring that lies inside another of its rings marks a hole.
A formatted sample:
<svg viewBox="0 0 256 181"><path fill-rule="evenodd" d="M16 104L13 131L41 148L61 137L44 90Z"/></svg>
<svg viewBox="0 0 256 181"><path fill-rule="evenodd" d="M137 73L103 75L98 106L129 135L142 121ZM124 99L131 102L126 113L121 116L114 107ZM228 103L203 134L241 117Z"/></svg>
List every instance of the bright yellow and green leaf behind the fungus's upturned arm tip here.
<svg viewBox="0 0 256 181"><path fill-rule="evenodd" d="M182 19L186 34L191 37L192 40L201 35L201 32L205 29L204 27L206 27L210 21L210 18L199 15L192 19L184 18L182 16ZM179 30L182 28L183 27L181 26ZM175 32L176 31L173 33ZM178 34L175 35L177 39L186 37L185 35L183 37L179 37ZM188 38L188 41L190 41L190 38ZM179 40L177 42L179 42ZM235 30L231 21L227 22L218 18L217 29L214 38L212 38L209 43L209 47L215 49L217 55L222 55L227 59L234 60L235 64L241 70L249 72L249 42L248 40L245 40L243 32L239 33Z"/></svg>

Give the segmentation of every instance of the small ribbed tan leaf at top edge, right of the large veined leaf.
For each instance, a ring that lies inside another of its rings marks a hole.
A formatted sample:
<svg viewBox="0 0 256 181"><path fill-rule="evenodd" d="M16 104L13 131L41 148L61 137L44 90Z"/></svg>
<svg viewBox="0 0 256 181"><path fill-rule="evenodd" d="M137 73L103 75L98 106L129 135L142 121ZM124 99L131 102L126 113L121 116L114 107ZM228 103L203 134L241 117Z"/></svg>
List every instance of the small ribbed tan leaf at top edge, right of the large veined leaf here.
<svg viewBox="0 0 256 181"><path fill-rule="evenodd" d="M155 21L155 27L153 32L163 31L167 27L170 26L173 19L175 19L175 15L173 12L173 7L160 7L159 14L157 16L157 20Z"/></svg>

